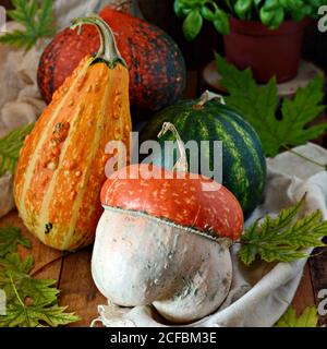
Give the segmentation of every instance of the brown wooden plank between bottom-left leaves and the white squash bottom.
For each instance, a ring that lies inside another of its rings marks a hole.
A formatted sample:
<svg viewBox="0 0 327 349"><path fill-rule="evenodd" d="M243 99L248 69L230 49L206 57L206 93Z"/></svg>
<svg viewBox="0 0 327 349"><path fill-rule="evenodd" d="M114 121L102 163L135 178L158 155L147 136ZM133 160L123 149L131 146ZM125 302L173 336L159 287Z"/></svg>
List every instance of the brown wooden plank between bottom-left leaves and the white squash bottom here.
<svg viewBox="0 0 327 349"><path fill-rule="evenodd" d="M93 248L81 250L64 258L60 285L61 304L69 304L82 320L71 324L89 326L98 317L97 305L107 304L107 300L97 290L90 274L90 257Z"/></svg>

